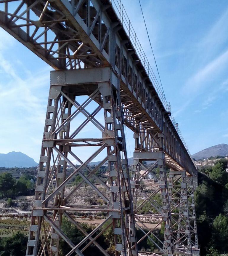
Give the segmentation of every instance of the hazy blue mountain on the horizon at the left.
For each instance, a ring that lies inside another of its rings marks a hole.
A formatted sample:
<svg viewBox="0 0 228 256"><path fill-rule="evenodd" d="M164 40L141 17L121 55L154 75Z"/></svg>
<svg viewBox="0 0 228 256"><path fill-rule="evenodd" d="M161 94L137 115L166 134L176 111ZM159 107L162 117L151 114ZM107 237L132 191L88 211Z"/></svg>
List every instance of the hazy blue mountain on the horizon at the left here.
<svg viewBox="0 0 228 256"><path fill-rule="evenodd" d="M0 154L0 167L33 167L38 164L29 156L21 152Z"/></svg>

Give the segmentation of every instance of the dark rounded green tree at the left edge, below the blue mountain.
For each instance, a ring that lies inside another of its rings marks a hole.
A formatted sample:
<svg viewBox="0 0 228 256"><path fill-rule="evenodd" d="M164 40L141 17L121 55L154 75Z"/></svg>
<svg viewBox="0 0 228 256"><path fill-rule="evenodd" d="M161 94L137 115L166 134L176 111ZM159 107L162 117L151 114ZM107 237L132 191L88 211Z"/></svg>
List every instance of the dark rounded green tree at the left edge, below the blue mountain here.
<svg viewBox="0 0 228 256"><path fill-rule="evenodd" d="M8 197L12 191L15 190L15 179L9 172L3 172L0 174L0 192L4 196Z"/></svg>

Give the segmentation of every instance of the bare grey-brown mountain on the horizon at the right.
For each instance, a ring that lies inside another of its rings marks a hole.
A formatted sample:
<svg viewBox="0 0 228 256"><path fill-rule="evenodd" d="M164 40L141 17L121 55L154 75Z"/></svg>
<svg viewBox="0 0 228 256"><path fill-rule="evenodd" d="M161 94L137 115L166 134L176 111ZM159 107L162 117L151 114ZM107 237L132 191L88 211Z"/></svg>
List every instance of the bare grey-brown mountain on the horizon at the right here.
<svg viewBox="0 0 228 256"><path fill-rule="evenodd" d="M212 146L210 148L205 148L198 153L192 155L195 159L205 159L210 156L228 156L228 145L227 144L219 144Z"/></svg>

